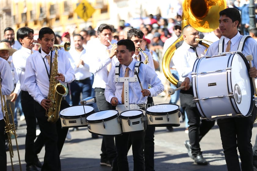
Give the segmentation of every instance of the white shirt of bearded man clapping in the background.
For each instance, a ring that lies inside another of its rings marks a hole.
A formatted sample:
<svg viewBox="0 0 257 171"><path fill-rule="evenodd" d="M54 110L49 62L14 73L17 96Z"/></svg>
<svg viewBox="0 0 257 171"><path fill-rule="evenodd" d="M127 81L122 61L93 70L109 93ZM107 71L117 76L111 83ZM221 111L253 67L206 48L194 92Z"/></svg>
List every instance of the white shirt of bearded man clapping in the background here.
<svg viewBox="0 0 257 171"><path fill-rule="evenodd" d="M85 59L86 50L83 49L81 52L78 52L75 48L69 50L70 55L68 56L71 62L71 67L74 69L75 80L85 80L86 78L91 77L91 73L89 72L89 64ZM78 62L83 60L84 66L80 65L77 67Z"/></svg>

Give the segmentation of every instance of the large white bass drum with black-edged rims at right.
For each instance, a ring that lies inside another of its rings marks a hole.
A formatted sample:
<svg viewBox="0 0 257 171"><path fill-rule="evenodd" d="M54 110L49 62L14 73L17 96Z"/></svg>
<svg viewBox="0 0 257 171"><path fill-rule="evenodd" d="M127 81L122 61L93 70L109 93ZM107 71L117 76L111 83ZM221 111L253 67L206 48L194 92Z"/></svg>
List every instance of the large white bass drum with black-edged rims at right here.
<svg viewBox="0 0 257 171"><path fill-rule="evenodd" d="M194 101L203 119L249 116L254 90L249 64L240 52L197 59L192 73Z"/></svg>

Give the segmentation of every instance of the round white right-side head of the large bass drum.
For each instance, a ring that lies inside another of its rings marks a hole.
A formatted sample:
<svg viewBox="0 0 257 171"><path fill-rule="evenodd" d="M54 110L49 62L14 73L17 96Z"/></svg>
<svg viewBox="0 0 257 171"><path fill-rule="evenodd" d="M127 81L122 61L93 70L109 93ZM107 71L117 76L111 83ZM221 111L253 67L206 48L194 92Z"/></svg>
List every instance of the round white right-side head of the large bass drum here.
<svg viewBox="0 0 257 171"><path fill-rule="evenodd" d="M253 83L249 77L248 62L241 53L236 53L233 56L231 63L231 87L239 111L242 115L249 116L254 105Z"/></svg>

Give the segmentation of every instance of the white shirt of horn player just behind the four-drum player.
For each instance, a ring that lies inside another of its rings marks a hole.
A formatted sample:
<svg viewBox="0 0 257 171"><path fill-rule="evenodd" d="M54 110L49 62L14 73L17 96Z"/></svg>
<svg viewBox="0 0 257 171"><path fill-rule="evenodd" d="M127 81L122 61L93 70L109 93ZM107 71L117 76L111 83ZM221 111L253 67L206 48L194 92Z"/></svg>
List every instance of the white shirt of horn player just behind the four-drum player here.
<svg viewBox="0 0 257 171"><path fill-rule="evenodd" d="M107 65L109 63L112 66L115 66L118 59L114 56L110 59L108 53L106 52L107 48L111 48L103 45L99 39L92 39L88 41L86 47L86 61L89 64L89 71L94 74L94 82L92 88L105 88L107 83Z"/></svg>

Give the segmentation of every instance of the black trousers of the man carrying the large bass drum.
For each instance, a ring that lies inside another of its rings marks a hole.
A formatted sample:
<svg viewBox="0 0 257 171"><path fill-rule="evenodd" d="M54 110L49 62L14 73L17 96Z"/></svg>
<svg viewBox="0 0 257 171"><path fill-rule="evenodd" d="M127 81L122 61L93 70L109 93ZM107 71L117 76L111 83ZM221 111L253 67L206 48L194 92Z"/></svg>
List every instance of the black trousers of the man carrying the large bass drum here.
<svg viewBox="0 0 257 171"><path fill-rule="evenodd" d="M217 124L228 171L241 171L241 169L253 171L252 116L218 119ZM241 169L237 148L240 154Z"/></svg>

